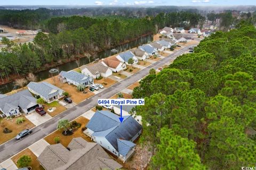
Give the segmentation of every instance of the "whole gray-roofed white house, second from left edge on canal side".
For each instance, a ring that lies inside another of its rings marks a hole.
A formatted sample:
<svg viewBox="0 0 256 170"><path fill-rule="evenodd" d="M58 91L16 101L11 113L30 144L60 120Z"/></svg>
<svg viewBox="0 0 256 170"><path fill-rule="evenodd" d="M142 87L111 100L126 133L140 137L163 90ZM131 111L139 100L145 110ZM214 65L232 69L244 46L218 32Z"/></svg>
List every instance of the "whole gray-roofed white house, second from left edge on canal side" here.
<svg viewBox="0 0 256 170"><path fill-rule="evenodd" d="M36 96L40 96L47 103L58 100L63 96L63 90L47 82L30 82L28 90Z"/></svg>

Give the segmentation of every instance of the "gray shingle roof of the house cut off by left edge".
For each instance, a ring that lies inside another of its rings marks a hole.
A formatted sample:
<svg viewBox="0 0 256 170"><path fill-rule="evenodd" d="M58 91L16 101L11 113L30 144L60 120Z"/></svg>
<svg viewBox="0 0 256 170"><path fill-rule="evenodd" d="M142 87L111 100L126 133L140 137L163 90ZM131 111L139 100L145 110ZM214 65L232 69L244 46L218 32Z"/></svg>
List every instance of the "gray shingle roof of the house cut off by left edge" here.
<svg viewBox="0 0 256 170"><path fill-rule="evenodd" d="M26 107L31 103L35 102L36 99L30 94L28 90L22 90L16 94L0 98L0 108L4 113L8 112L11 108L26 109Z"/></svg>

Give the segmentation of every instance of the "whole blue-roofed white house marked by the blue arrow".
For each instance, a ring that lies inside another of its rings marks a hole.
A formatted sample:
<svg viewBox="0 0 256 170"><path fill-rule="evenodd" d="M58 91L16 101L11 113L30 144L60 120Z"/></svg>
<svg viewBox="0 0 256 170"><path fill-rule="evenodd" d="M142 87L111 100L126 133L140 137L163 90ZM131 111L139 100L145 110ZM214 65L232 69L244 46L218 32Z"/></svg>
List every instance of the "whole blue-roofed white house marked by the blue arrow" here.
<svg viewBox="0 0 256 170"><path fill-rule="evenodd" d="M118 115L97 111L84 133L125 162L134 153L133 141L141 134L142 126L131 115L123 118L120 123Z"/></svg>

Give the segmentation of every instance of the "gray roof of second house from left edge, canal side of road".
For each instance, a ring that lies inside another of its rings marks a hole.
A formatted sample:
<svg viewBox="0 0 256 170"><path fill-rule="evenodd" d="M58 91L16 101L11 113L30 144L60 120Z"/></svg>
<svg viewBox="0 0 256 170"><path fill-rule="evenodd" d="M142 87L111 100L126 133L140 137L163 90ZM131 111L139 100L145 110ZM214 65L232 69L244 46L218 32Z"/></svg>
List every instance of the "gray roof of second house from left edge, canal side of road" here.
<svg viewBox="0 0 256 170"><path fill-rule="evenodd" d="M27 87L46 99L63 93L63 90L47 82L30 82Z"/></svg>

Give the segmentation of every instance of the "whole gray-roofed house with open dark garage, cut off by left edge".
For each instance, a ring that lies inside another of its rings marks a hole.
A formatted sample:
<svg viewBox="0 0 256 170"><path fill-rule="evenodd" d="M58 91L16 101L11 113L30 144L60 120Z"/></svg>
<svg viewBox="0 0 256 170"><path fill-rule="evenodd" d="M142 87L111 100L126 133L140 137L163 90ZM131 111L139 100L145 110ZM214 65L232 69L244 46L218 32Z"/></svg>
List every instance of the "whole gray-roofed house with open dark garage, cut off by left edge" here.
<svg viewBox="0 0 256 170"><path fill-rule="evenodd" d="M21 111L29 114L35 111L35 108L41 107L36 103L34 98L28 90L22 90L10 96L1 95L0 98L0 111L5 116L18 115Z"/></svg>

